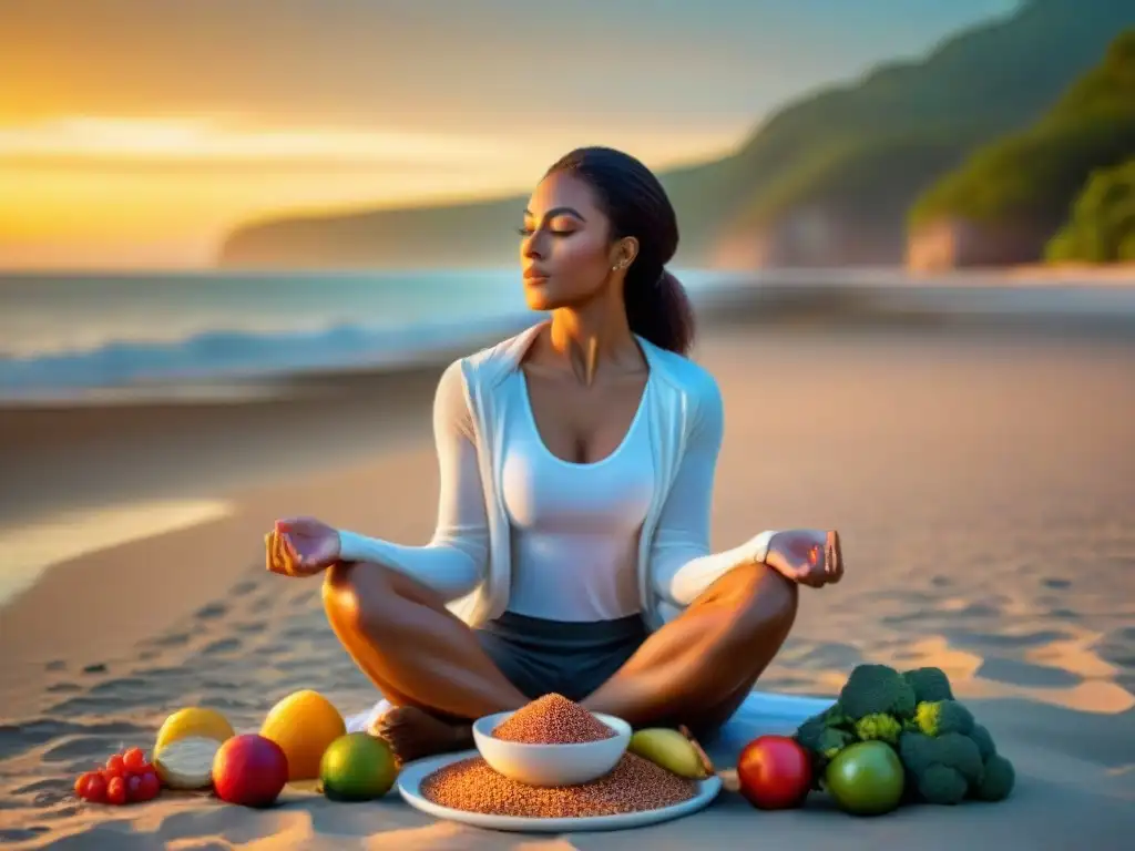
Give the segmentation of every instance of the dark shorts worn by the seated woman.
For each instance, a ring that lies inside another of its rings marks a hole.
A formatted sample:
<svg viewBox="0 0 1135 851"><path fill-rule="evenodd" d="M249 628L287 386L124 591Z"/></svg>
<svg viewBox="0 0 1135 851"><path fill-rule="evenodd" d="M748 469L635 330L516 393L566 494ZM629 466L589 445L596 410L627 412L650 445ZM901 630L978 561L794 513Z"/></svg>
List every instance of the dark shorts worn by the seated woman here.
<svg viewBox="0 0 1135 851"><path fill-rule="evenodd" d="M489 658L530 700L556 692L579 701L623 666L648 631L639 615L574 622L505 612L477 635Z"/></svg>

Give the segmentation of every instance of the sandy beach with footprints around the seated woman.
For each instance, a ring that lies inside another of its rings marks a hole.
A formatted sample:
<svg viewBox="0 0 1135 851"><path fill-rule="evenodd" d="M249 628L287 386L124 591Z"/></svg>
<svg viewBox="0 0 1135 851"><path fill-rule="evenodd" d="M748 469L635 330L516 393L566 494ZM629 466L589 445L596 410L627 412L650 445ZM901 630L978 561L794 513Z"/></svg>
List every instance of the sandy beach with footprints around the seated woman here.
<svg viewBox="0 0 1135 851"><path fill-rule="evenodd" d="M818 802L757 812L726 791L673 824L560 837L437 823L395 794L351 806L291 790L263 811L187 795L76 803L77 773L148 747L180 707L255 730L296 689L344 714L375 701L318 581L267 574L261 537L279 515L310 513L428 538L438 369L422 368L277 385L253 402L0 411L3 581L23 589L0 608L0 839L123 851L1127 846L1135 343L738 323L707 327L697 357L726 405L715 545L835 526L849 563L842 584L804 593L758 688L829 696L861 660L940 665L1016 764L1010 800L857 819Z"/></svg>

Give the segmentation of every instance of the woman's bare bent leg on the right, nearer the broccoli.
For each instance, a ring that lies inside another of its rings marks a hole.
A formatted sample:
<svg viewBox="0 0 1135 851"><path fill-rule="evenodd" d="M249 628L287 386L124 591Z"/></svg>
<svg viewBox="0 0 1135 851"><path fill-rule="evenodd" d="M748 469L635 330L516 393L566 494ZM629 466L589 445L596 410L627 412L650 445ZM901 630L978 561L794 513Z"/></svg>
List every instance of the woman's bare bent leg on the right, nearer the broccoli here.
<svg viewBox="0 0 1135 851"><path fill-rule="evenodd" d="M798 589L771 567L743 565L650 635L583 706L632 726L706 731L732 715L780 650Z"/></svg>

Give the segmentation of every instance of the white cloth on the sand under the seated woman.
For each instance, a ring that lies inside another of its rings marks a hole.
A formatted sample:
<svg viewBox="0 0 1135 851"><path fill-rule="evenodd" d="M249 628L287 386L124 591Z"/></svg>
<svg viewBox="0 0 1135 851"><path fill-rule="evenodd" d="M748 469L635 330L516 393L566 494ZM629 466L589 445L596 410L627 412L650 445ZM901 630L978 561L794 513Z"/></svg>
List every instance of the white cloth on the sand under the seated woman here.
<svg viewBox="0 0 1135 851"><path fill-rule="evenodd" d="M724 726L701 745L714 761L731 765L741 749L758 735L791 733L800 722L822 713L832 702L832 698L754 691ZM369 710L350 716L346 719L347 732L368 730L389 708L389 701L384 698Z"/></svg>

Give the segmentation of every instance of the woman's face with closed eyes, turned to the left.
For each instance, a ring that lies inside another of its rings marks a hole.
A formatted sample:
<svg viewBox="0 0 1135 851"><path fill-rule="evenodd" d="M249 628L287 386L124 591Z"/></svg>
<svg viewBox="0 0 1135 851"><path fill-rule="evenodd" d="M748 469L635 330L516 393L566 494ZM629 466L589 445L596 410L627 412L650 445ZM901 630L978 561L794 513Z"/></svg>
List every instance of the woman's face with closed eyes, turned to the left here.
<svg viewBox="0 0 1135 851"><path fill-rule="evenodd" d="M609 222L591 188L568 172L540 182L524 210L520 260L531 310L586 303L607 286L620 261Z"/></svg>

